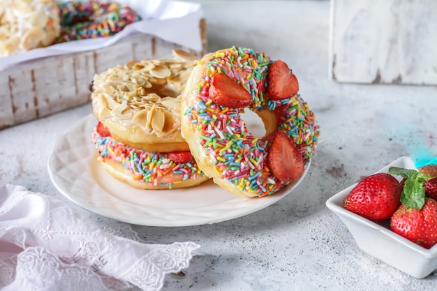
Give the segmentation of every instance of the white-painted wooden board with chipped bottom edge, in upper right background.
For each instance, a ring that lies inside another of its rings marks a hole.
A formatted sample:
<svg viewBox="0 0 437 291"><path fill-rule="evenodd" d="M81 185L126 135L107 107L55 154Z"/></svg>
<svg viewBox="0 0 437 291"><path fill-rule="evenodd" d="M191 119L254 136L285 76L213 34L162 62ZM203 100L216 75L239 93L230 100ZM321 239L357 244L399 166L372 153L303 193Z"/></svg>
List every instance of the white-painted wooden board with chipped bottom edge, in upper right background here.
<svg viewBox="0 0 437 291"><path fill-rule="evenodd" d="M437 84L435 0L331 0L329 40L332 80Z"/></svg>

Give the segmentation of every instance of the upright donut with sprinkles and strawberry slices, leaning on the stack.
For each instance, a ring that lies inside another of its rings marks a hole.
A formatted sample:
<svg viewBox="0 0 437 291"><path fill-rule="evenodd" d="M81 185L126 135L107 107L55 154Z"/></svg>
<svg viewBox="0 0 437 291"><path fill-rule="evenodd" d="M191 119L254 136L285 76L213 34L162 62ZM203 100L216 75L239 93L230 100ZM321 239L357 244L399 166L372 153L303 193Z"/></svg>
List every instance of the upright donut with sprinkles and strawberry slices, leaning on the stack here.
<svg viewBox="0 0 437 291"><path fill-rule="evenodd" d="M182 134L200 170L230 193L263 197L299 179L320 130L288 65L231 47L205 55L182 93ZM265 137L241 113L258 114Z"/></svg>

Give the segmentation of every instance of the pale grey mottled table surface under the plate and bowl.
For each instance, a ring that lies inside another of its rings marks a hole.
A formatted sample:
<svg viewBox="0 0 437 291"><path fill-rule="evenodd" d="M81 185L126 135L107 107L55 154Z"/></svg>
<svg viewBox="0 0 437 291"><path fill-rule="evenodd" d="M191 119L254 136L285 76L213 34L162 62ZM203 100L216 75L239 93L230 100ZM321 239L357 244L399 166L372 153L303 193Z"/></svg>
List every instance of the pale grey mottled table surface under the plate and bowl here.
<svg viewBox="0 0 437 291"><path fill-rule="evenodd" d="M435 156L437 87L330 81L329 1L201 3L209 50L252 47L292 67L321 142L303 183L265 209L213 225L132 225L146 241L201 245L186 276L168 276L163 290L436 290L433 274L415 279L360 251L325 202L400 156ZM0 183L65 200L47 158L66 127L90 113L87 104L0 130Z"/></svg>

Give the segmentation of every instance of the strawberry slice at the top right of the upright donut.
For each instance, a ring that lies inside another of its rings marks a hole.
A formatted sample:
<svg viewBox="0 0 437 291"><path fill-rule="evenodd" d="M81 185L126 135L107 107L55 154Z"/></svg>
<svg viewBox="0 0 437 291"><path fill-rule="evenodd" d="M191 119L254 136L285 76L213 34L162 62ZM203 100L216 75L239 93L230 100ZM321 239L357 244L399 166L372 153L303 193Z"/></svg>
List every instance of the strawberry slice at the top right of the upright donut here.
<svg viewBox="0 0 437 291"><path fill-rule="evenodd" d="M299 91L297 77L288 68L288 65L281 60L275 61L269 66L268 77L267 91L272 100L290 98Z"/></svg>

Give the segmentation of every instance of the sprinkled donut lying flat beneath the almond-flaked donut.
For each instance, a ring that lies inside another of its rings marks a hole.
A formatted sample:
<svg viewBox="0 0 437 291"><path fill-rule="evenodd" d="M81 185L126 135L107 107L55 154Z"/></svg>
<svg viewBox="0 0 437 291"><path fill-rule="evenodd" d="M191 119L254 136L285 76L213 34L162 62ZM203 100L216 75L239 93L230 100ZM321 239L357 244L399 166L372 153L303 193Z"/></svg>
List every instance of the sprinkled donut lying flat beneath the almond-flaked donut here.
<svg viewBox="0 0 437 291"><path fill-rule="evenodd" d="M189 151L162 153L135 149L114 140L103 124L96 126L91 142L96 145L98 160L106 172L134 188L188 188L208 179Z"/></svg>

